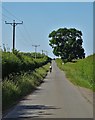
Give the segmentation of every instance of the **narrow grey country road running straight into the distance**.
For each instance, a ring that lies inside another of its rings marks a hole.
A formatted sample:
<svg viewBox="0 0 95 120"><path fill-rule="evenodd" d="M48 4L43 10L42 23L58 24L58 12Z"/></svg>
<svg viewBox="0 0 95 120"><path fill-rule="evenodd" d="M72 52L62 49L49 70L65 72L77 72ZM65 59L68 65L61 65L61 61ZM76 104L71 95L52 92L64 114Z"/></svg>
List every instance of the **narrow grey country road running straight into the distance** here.
<svg viewBox="0 0 95 120"><path fill-rule="evenodd" d="M69 82L55 61L38 89L4 118L93 118L93 105Z"/></svg>

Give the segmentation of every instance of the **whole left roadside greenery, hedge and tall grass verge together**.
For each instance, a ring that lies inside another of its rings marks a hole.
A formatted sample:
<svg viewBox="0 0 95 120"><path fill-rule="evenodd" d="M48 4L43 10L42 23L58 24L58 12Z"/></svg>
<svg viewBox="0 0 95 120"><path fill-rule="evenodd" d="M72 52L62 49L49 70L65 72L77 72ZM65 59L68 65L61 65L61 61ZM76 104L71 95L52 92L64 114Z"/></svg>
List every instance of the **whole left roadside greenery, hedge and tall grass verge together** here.
<svg viewBox="0 0 95 120"><path fill-rule="evenodd" d="M49 57L45 55L40 57L40 54L39 58L35 59L31 53L2 52L3 111L16 104L43 82L49 69L47 64L49 61Z"/></svg>

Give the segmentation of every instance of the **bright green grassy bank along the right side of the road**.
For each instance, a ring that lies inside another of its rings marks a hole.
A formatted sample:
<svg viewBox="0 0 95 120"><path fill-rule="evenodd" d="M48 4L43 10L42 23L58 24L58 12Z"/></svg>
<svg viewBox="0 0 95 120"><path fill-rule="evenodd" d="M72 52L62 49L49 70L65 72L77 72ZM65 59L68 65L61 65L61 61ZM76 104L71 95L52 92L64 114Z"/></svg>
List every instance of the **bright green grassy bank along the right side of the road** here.
<svg viewBox="0 0 95 120"><path fill-rule="evenodd" d="M61 59L56 59L56 62L73 84L95 91L95 61L93 58L95 58L95 54L66 64L62 64Z"/></svg>

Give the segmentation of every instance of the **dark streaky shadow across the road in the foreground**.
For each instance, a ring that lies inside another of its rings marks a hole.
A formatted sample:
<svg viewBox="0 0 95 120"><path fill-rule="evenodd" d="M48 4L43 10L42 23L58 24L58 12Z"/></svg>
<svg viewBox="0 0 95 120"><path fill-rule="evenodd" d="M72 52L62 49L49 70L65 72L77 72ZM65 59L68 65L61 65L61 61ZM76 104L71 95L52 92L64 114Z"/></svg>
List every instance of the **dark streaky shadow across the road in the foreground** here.
<svg viewBox="0 0 95 120"><path fill-rule="evenodd" d="M18 118L42 118L53 115L50 110L60 109L49 105L20 105L17 108Z"/></svg>

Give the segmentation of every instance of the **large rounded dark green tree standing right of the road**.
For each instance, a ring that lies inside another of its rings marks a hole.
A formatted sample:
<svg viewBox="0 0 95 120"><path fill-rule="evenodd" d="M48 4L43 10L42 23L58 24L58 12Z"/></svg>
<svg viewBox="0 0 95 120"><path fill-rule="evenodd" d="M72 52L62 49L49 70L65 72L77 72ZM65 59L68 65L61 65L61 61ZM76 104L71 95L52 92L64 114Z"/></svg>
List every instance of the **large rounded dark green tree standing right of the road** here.
<svg viewBox="0 0 95 120"><path fill-rule="evenodd" d="M49 38L54 55L60 56L64 62L85 58L81 31L75 28L60 28L52 31Z"/></svg>

